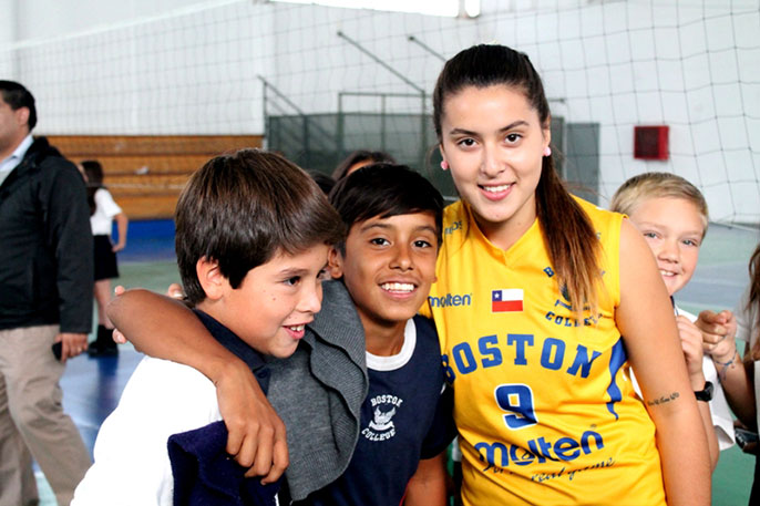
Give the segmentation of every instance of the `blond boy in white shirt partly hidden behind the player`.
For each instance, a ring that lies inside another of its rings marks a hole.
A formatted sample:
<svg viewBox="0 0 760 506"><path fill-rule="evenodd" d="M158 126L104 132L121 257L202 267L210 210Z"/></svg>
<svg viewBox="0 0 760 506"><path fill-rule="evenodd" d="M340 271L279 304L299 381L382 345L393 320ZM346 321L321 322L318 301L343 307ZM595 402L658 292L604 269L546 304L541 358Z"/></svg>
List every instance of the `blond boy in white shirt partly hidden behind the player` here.
<svg viewBox="0 0 760 506"><path fill-rule="evenodd" d="M691 279L708 226L707 202L688 180L669 173L644 173L625 182L613 196L610 210L628 215L655 254L672 301L689 382L699 402L715 469L720 452L733 445L733 420L718 373L702 353L697 317L676 306L674 296ZM631 379L635 376L631 373ZM636 384L640 395L640 389Z"/></svg>

